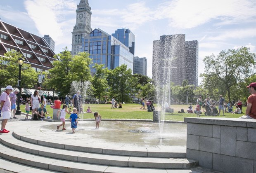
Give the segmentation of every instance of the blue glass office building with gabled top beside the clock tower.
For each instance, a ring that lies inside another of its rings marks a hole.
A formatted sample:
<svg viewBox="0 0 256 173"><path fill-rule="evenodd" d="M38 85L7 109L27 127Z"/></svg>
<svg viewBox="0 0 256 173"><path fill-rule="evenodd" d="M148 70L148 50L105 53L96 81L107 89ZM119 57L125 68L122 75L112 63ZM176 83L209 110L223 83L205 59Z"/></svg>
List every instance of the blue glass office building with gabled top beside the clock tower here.
<svg viewBox="0 0 256 173"><path fill-rule="evenodd" d="M111 70L125 64L128 69L133 70L133 54L129 48L99 28L82 39L82 51L88 52L92 58L92 75L96 72L95 68L92 68L95 63L104 64L104 68Z"/></svg>

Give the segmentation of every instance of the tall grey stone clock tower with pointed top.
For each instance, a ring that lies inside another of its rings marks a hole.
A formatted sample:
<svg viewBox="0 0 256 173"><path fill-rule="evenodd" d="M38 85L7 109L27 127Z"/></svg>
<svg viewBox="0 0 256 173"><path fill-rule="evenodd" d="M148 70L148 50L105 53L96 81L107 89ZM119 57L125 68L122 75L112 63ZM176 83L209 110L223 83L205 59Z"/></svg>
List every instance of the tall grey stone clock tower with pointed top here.
<svg viewBox="0 0 256 173"><path fill-rule="evenodd" d="M76 55L82 48L82 38L91 31L91 7L88 0L80 0L76 9L76 25L72 32L72 55Z"/></svg>

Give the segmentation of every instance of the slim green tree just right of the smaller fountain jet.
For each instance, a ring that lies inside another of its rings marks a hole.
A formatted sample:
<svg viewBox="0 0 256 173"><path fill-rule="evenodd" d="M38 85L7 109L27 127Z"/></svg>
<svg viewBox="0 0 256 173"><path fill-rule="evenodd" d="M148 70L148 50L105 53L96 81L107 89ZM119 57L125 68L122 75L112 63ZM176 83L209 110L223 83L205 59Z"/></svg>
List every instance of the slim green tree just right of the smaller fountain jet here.
<svg viewBox="0 0 256 173"><path fill-rule="evenodd" d="M93 86L93 93L96 98L99 98L101 103L101 98L107 95L107 74L108 69L103 68L104 65L95 64L93 68L96 69L96 73L92 78L92 86Z"/></svg>

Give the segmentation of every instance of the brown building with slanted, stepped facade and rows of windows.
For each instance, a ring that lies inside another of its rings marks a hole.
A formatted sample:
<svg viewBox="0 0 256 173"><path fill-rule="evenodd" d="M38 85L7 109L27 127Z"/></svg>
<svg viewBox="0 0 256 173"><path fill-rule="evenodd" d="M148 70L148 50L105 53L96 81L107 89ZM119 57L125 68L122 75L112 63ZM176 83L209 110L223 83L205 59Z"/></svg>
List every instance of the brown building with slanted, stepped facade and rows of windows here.
<svg viewBox="0 0 256 173"><path fill-rule="evenodd" d="M52 62L57 60L45 39L0 21L0 56L7 51L21 52L24 63L31 64L37 72L50 70Z"/></svg>

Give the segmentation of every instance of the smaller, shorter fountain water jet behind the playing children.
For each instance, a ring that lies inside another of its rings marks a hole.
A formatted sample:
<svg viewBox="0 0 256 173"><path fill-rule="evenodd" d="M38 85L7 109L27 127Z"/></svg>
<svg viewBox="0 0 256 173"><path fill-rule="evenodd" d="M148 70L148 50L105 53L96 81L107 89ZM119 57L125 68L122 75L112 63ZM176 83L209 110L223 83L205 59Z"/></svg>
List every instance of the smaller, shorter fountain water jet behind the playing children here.
<svg viewBox="0 0 256 173"><path fill-rule="evenodd" d="M75 94L78 94L79 91L79 97L78 97L78 110L80 112L80 114L78 115L78 117L80 117L80 119L78 119L79 121L83 121L83 117L84 117L84 113L85 113L85 99L88 96L88 89L90 88L90 82L89 81L84 81L84 82L77 82L77 81L73 81L71 83L71 89L70 89L70 94L71 96L74 96ZM83 128L83 124L78 123L78 129L84 129Z"/></svg>

